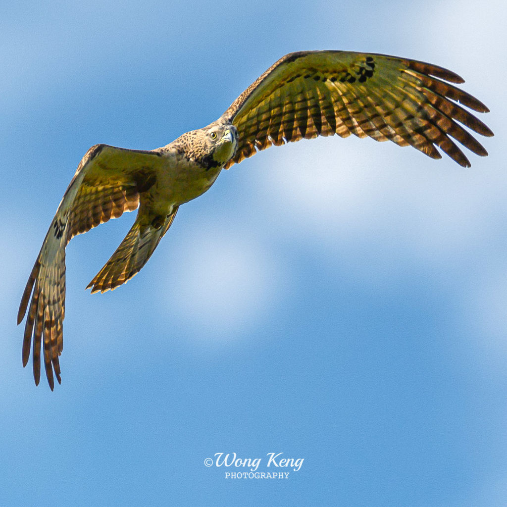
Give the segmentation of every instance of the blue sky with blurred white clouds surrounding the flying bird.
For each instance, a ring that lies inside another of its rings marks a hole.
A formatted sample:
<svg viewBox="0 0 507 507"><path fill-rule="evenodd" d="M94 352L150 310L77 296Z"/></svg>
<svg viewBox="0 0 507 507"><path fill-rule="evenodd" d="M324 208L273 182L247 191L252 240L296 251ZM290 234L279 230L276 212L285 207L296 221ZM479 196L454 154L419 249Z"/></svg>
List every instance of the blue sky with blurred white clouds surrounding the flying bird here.
<svg viewBox="0 0 507 507"><path fill-rule="evenodd" d="M0 8L0 504L505 504L506 8L478 6ZM17 307L86 150L163 146L304 49L456 71L491 110L490 156L463 169L338 137L267 150L103 295L84 287L134 214L75 238L63 382L36 388ZM267 473L272 452L304 461L286 480L204 465L236 453Z"/></svg>

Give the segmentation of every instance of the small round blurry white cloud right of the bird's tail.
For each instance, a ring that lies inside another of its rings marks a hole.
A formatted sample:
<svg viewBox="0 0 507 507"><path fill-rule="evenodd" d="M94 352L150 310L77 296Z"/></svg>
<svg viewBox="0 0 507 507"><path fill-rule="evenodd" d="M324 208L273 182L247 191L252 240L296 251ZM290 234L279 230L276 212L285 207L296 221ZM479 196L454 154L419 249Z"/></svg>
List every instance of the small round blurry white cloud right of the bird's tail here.
<svg viewBox="0 0 507 507"><path fill-rule="evenodd" d="M280 268L265 245L248 240L241 230L218 234L189 228L188 257L170 275L176 278L166 280L166 304L184 321L188 335L214 342L237 337L246 327L251 331L269 315L280 280Z"/></svg>

